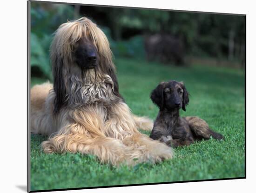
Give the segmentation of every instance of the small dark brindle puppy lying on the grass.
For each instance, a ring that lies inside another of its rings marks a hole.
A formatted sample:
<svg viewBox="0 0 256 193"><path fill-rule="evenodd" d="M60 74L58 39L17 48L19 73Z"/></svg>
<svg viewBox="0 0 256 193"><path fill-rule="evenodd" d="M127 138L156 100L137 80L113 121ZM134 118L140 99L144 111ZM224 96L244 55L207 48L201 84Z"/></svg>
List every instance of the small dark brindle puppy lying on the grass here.
<svg viewBox="0 0 256 193"><path fill-rule="evenodd" d="M188 146L195 140L217 140L223 136L209 129L208 124L199 117L180 117L179 109L186 111L189 93L183 82L175 80L161 82L152 91L151 100L159 107L150 138L166 143L168 146Z"/></svg>

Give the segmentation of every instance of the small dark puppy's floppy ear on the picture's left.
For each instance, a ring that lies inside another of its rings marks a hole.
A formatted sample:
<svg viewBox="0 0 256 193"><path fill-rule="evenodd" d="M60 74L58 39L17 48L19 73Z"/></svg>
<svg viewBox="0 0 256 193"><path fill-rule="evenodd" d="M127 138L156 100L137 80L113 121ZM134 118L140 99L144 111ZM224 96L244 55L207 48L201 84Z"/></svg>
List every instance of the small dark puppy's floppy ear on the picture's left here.
<svg viewBox="0 0 256 193"><path fill-rule="evenodd" d="M155 103L160 110L164 106L164 88L165 82L161 82L150 94L150 99Z"/></svg>

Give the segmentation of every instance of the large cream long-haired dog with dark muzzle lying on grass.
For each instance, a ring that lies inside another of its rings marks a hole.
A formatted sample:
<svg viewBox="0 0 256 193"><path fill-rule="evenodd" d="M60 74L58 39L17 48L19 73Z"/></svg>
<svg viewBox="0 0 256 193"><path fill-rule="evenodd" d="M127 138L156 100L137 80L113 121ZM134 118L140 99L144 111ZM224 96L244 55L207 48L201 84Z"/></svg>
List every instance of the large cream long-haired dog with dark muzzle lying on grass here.
<svg viewBox="0 0 256 193"><path fill-rule="evenodd" d="M51 61L54 84L31 89L31 132L49 136L45 153L90 153L114 165L172 158L170 147L137 130L153 123L133 115L121 97L108 40L96 24L85 17L62 24Z"/></svg>

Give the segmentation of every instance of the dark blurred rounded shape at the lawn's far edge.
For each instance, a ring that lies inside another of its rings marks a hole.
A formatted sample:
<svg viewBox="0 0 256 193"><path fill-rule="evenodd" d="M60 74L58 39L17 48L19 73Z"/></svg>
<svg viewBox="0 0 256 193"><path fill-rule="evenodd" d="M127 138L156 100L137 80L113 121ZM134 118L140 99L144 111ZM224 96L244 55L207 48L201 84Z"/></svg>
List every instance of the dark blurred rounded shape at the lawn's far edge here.
<svg viewBox="0 0 256 193"><path fill-rule="evenodd" d="M170 34L154 34L145 37L147 60L159 60L162 63L184 64L182 40Z"/></svg>

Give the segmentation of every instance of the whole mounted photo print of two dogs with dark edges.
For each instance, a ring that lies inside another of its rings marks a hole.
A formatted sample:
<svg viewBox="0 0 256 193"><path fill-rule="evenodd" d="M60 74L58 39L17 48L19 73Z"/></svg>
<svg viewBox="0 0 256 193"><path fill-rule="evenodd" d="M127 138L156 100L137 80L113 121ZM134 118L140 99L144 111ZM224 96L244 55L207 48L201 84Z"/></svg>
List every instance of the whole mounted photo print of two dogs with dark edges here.
<svg viewBox="0 0 256 193"><path fill-rule="evenodd" d="M28 1L28 192L245 176L245 15Z"/></svg>

